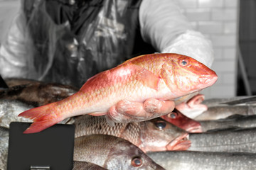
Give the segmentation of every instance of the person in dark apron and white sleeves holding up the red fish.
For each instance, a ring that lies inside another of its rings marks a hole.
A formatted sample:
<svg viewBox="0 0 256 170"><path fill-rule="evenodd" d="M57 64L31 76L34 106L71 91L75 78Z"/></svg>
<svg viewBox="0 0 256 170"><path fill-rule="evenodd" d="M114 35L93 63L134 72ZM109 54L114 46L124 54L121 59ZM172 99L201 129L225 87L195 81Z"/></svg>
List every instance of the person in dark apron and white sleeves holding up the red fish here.
<svg viewBox="0 0 256 170"><path fill-rule="evenodd" d="M210 41L191 28L175 0L22 0L0 47L0 74L80 87L98 72L152 52L213 63ZM147 116L175 106L154 98L117 105L117 113Z"/></svg>

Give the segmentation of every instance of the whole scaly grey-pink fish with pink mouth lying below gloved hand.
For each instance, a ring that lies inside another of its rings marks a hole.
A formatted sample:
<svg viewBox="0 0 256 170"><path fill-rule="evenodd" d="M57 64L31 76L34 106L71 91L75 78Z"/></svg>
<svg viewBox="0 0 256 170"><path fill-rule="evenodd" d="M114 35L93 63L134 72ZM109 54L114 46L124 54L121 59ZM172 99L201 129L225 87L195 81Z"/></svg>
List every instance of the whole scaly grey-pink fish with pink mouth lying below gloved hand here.
<svg viewBox="0 0 256 170"><path fill-rule="evenodd" d="M75 118L75 137L103 134L121 137L143 152L186 150L190 147L188 132L154 118L139 123L114 123L110 126L102 116L81 115Z"/></svg>

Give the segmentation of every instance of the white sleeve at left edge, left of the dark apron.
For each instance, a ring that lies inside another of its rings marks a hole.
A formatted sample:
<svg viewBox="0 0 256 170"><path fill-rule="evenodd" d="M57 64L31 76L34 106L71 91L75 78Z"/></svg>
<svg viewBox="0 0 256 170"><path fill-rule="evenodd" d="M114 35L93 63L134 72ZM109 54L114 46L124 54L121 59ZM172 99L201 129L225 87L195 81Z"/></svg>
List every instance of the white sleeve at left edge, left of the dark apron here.
<svg viewBox="0 0 256 170"><path fill-rule="evenodd" d="M4 78L26 77L27 54L30 50L25 18L18 14L0 47L0 74Z"/></svg>

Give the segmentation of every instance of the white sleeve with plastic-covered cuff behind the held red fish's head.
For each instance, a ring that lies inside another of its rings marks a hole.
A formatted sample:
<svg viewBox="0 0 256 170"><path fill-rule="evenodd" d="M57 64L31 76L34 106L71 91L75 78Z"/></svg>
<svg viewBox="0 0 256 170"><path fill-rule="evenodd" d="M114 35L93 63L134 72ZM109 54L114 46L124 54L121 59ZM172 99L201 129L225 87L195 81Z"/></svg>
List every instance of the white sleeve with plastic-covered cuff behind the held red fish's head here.
<svg viewBox="0 0 256 170"><path fill-rule="evenodd" d="M188 55L210 67L213 47L193 30L175 0L144 0L139 8L142 38L159 52Z"/></svg>

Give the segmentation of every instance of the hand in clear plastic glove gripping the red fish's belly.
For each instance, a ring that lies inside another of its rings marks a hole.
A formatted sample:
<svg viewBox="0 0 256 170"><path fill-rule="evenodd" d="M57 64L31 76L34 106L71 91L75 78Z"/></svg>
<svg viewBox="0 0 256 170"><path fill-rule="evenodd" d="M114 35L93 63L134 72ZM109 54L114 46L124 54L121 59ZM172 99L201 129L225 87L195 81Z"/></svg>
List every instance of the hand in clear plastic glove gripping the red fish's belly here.
<svg viewBox="0 0 256 170"><path fill-rule="evenodd" d="M110 108L106 118L110 125L113 125L113 122L140 122L166 115L173 111L174 107L174 101L161 101L156 98L149 98L143 103L122 100Z"/></svg>

